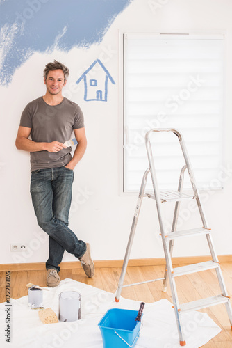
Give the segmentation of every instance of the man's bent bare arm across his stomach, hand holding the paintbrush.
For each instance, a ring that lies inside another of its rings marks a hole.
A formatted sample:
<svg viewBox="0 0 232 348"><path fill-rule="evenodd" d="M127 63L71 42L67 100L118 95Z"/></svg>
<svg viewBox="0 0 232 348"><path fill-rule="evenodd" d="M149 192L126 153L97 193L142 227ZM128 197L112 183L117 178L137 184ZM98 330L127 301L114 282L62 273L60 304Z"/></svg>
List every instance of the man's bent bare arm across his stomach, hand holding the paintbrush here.
<svg viewBox="0 0 232 348"><path fill-rule="evenodd" d="M28 139L31 134L31 128L19 126L17 138L15 141L16 148L18 150L25 150L30 152L43 151L58 152L66 146L59 141L52 141L51 143L37 143Z"/></svg>

